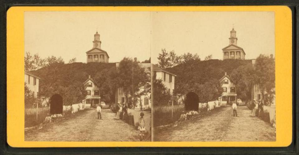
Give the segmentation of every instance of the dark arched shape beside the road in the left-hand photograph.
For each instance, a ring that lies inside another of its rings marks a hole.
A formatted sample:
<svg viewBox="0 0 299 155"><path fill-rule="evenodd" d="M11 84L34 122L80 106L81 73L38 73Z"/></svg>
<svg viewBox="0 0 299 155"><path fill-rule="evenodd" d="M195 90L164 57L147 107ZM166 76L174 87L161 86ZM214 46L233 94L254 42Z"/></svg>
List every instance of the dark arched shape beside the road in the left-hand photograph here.
<svg viewBox="0 0 299 155"><path fill-rule="evenodd" d="M55 94L50 98L50 114L62 114L63 99L59 94Z"/></svg>

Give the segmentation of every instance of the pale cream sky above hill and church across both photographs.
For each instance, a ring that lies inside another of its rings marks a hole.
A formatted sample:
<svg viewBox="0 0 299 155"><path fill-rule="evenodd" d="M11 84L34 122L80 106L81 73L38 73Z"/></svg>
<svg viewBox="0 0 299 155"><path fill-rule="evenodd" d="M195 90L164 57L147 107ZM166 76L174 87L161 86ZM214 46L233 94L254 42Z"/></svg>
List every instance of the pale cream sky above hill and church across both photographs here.
<svg viewBox="0 0 299 155"><path fill-rule="evenodd" d="M222 59L233 25L245 59L275 54L274 12L25 12L25 51L85 63L98 31L109 62L157 63L162 48Z"/></svg>

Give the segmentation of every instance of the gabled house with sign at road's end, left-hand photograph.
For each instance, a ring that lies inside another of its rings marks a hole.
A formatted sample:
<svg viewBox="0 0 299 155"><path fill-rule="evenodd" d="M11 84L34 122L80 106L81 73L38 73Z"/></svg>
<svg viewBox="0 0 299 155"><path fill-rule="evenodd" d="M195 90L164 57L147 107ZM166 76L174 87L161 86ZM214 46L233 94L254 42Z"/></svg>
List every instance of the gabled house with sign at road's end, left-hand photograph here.
<svg viewBox="0 0 299 155"><path fill-rule="evenodd" d="M97 84L94 82L94 80L91 78L91 76L88 76L88 79L84 82L85 90L87 92L85 103L86 106L95 107L97 104L99 104L101 101L100 97L100 89L97 86Z"/></svg>

